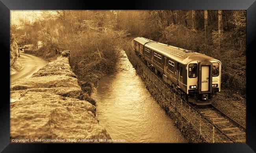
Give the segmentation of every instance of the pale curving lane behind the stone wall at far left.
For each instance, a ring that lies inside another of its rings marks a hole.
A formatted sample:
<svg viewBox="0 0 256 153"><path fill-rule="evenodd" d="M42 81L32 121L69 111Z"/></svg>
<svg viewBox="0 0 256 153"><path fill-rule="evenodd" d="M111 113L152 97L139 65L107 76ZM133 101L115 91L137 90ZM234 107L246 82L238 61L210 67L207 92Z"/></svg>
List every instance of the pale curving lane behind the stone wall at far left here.
<svg viewBox="0 0 256 153"><path fill-rule="evenodd" d="M24 66L19 72L11 75L11 83L17 79L28 78L32 76L32 74L37 72L40 68L48 63L39 57L24 53L23 51L20 51L20 57L17 59L17 61L22 63Z"/></svg>

